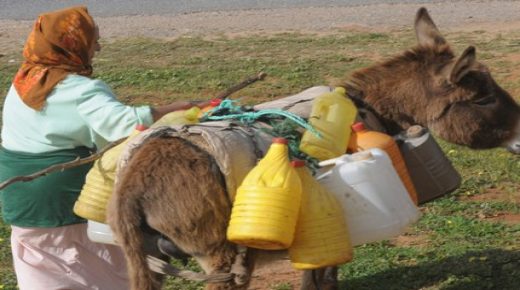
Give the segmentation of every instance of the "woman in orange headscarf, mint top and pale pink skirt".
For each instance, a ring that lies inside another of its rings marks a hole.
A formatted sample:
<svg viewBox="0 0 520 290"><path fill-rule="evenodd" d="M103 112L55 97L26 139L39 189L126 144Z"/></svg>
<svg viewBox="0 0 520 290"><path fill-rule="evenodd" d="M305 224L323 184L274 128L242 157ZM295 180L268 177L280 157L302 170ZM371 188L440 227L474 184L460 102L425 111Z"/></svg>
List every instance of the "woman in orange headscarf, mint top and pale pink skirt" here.
<svg viewBox="0 0 520 290"><path fill-rule="evenodd" d="M128 136L137 124L149 126L193 105L131 107L117 101L104 82L90 78L98 38L85 7L38 17L5 99L0 181L85 157ZM86 221L72 212L90 166L0 192L20 289L128 289L120 249L91 242Z"/></svg>

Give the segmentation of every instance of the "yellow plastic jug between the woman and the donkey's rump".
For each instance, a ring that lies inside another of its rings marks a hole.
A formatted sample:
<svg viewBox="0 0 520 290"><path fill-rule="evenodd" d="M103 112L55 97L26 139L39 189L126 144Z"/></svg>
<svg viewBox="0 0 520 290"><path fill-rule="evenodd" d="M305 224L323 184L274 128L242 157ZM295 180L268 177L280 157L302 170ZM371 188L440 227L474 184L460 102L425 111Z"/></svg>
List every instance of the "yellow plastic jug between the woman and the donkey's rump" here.
<svg viewBox="0 0 520 290"><path fill-rule="evenodd" d="M94 165L87 173L81 193L74 203L73 211L76 215L96 222L106 223L106 208L114 188L115 171L119 155L126 143L145 129L146 127L143 125L137 125L123 143L108 150L94 162Z"/></svg>

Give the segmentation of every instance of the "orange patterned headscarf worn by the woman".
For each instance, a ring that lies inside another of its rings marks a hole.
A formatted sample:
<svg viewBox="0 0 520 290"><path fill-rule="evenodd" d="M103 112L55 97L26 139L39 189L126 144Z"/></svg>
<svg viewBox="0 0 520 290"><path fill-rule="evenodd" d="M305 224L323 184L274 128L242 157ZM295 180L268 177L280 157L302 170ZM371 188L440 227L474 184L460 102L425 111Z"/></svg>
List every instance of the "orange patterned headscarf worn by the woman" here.
<svg viewBox="0 0 520 290"><path fill-rule="evenodd" d="M54 86L68 74L90 76L90 51L96 41L96 25L86 7L41 14L25 43L25 61L13 81L22 101L41 110Z"/></svg>

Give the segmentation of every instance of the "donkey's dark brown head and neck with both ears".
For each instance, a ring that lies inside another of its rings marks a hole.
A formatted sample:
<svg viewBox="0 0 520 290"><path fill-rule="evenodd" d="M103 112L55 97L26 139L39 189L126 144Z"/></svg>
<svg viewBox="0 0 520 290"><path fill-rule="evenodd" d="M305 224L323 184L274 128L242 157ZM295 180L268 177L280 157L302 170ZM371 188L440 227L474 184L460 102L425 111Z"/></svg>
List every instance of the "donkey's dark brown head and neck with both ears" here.
<svg viewBox="0 0 520 290"><path fill-rule="evenodd" d="M415 48L355 72L347 87L363 92L391 133L417 123L448 142L520 153L520 107L476 60L475 48L455 57L425 8L415 31Z"/></svg>

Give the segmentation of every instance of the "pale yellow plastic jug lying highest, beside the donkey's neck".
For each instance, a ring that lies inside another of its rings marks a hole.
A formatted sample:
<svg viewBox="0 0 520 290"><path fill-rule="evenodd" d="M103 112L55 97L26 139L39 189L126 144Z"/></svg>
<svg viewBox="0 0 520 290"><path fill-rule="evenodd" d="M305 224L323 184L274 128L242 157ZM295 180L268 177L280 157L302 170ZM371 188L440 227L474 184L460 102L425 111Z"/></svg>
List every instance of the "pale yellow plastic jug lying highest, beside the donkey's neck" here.
<svg viewBox="0 0 520 290"><path fill-rule="evenodd" d="M300 150L320 161L339 157L345 153L350 138L350 126L354 123L357 108L345 88L318 96L312 105L309 124L321 135L305 131Z"/></svg>

